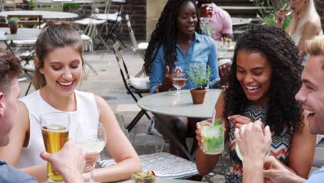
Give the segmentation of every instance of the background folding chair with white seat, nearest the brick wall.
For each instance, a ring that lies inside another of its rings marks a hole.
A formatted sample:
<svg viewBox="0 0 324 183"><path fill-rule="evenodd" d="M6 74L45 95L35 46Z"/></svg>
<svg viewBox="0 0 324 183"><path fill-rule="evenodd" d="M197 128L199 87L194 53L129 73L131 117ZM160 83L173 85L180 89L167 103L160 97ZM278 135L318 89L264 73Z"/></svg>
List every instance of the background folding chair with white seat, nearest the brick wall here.
<svg viewBox="0 0 324 183"><path fill-rule="evenodd" d="M127 48L127 46L124 44L122 40L120 40L120 38L115 32L116 28L118 27L118 25L120 25L122 21L121 14L124 10L123 7L126 3L126 0L110 0L110 1L120 4L118 10L114 13L109 13L110 8L108 8L107 12L98 13L97 15L94 15L94 17L96 17L96 19L103 19L107 21L106 35L103 37L105 39L105 42L111 39L114 43L116 43L116 40L118 40L121 44L123 44L125 48ZM98 49L99 46L101 46L101 44L99 44L96 49Z"/></svg>

